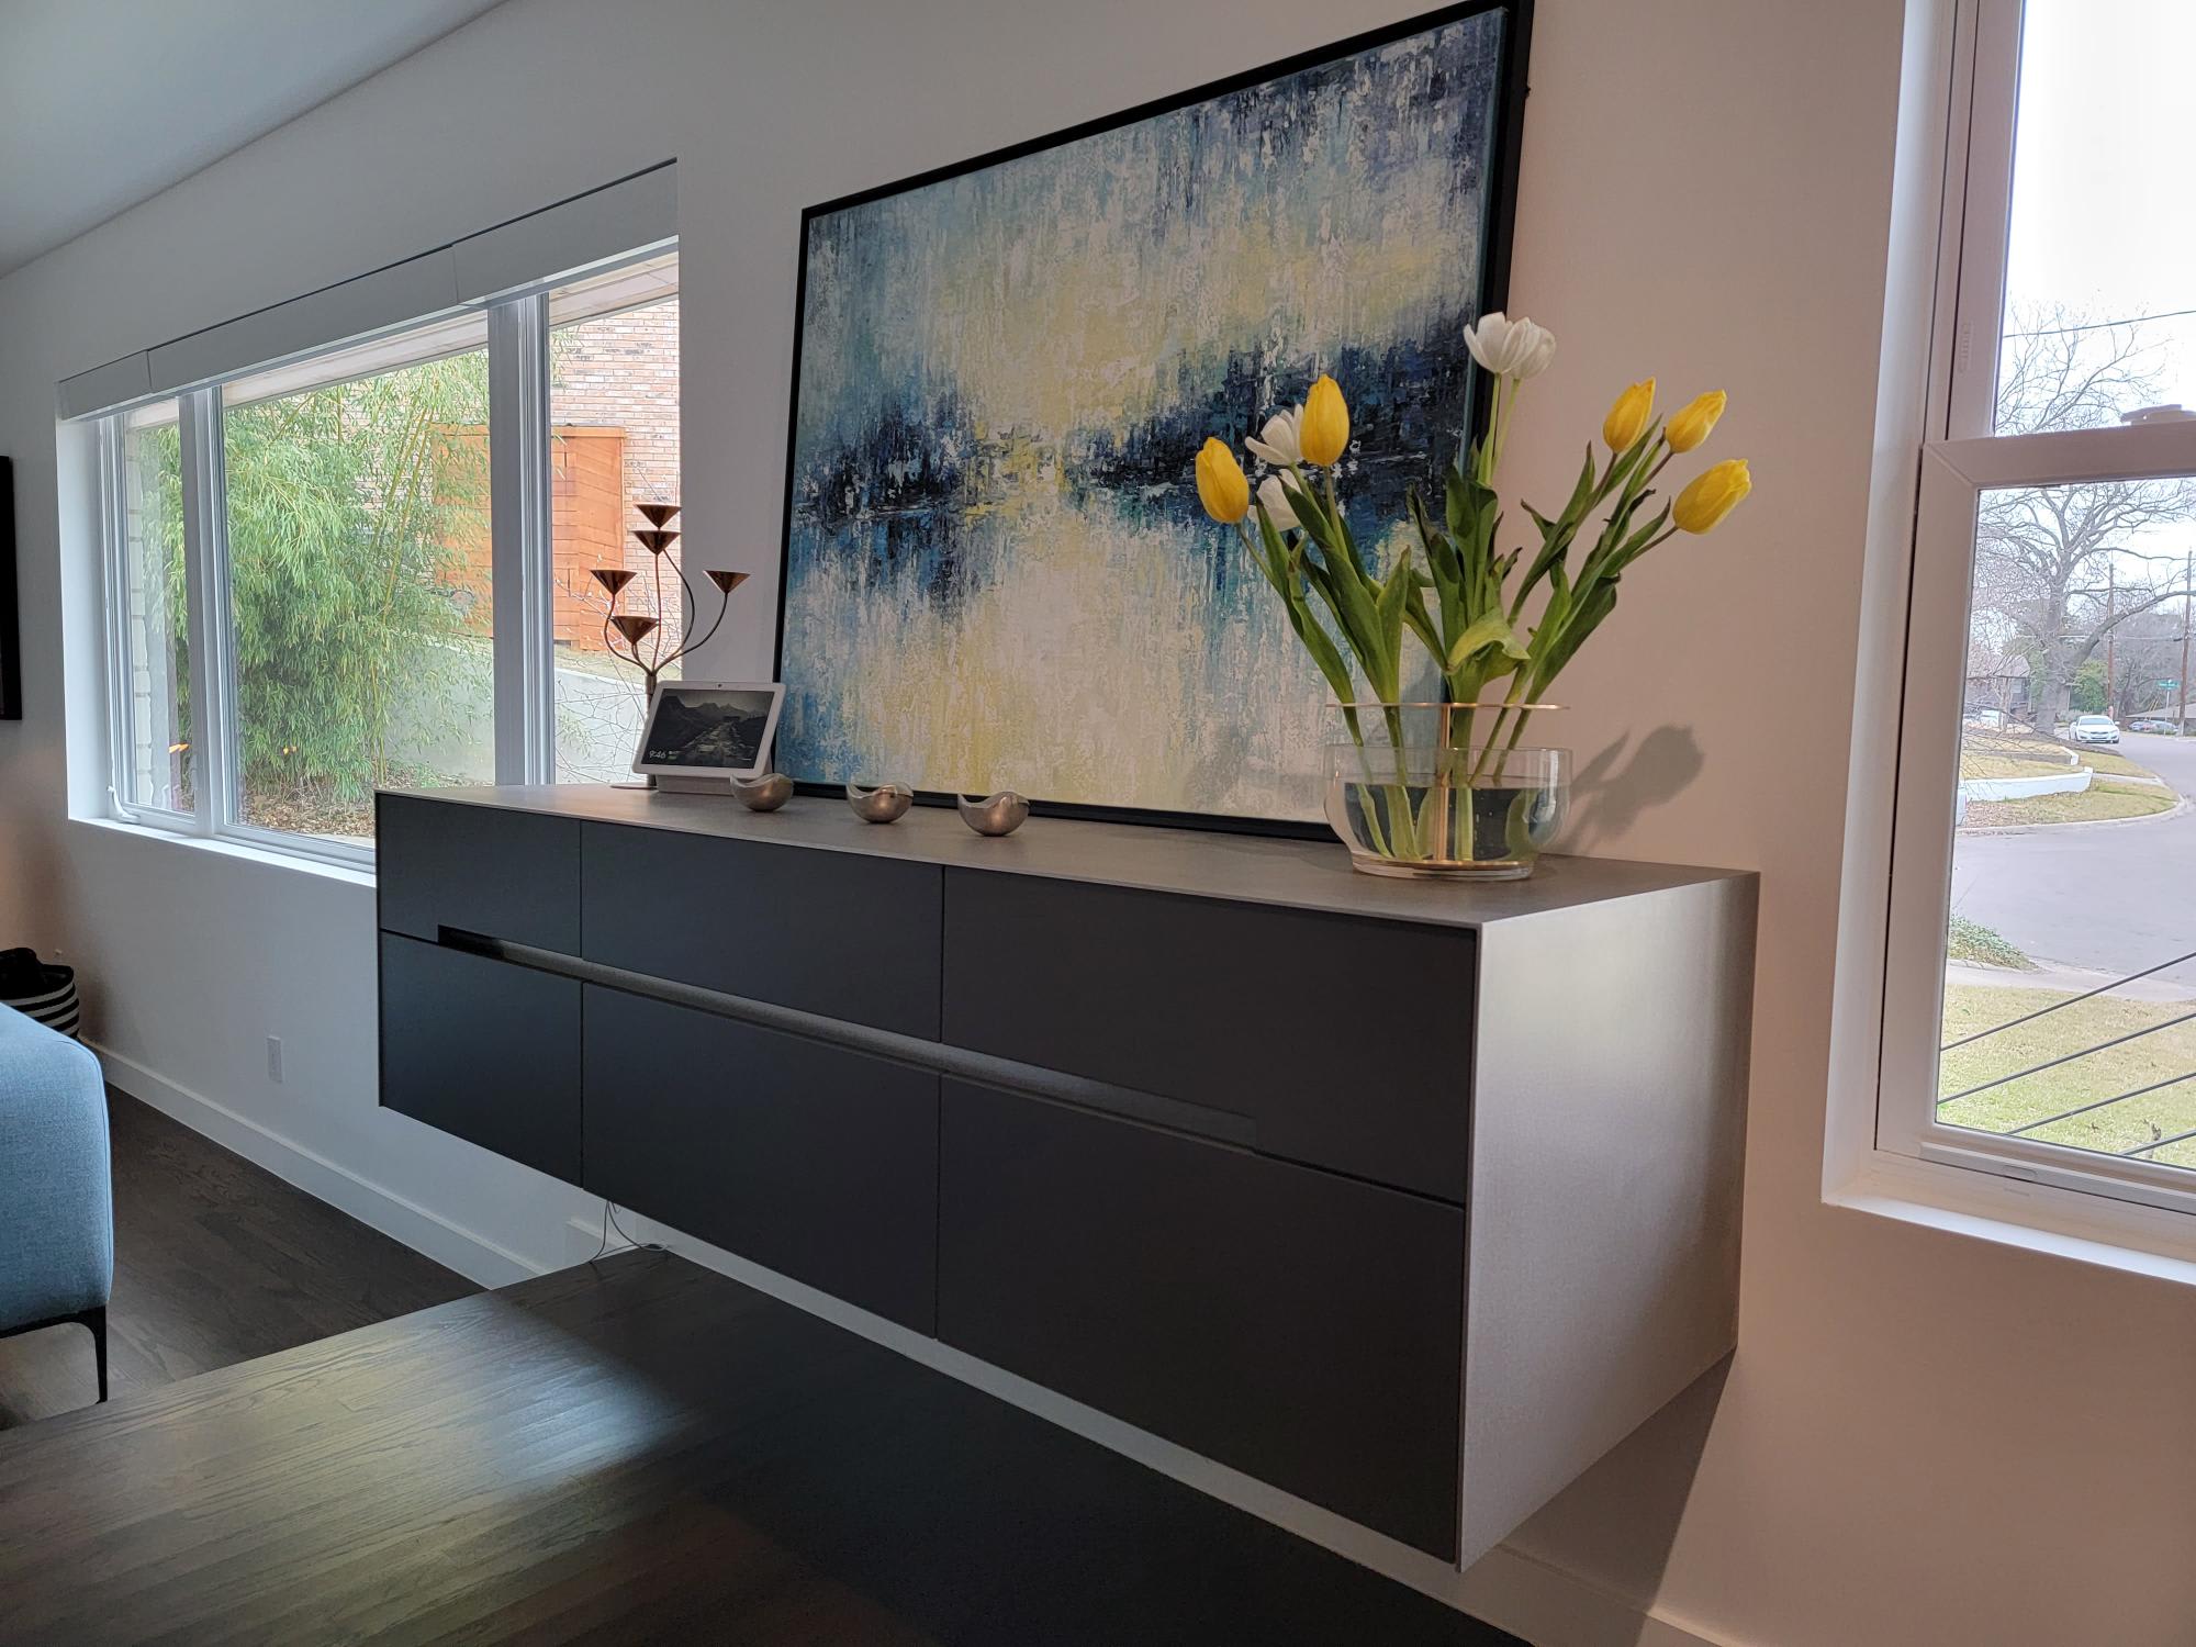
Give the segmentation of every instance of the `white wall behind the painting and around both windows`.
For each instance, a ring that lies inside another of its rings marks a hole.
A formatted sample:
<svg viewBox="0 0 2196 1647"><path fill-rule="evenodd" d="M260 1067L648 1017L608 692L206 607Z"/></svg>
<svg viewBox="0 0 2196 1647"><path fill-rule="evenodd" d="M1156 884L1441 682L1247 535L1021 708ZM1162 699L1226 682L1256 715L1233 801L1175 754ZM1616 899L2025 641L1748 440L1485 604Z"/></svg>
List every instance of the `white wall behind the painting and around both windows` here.
<svg viewBox="0 0 2196 1647"><path fill-rule="evenodd" d="M1410 11L509 0L20 270L0 450L31 718L0 727L0 933L64 946L116 1052L316 1153L314 1181L386 1186L481 1274L435 1219L560 1263L584 1201L373 1107L365 885L64 819L64 729L97 799L97 562L53 461L55 380L676 156L687 527L764 569L806 202ZM1715 538L1625 580L1566 676L1577 843L1759 867L1763 925L1739 1355L1515 1544L1733 1643L2187 1640L2196 1300L1820 1199L1902 15L1542 0L1513 307L1564 347L1513 474L1559 494L1607 397L1658 371L1669 395L1730 391L1717 450L1757 477ZM773 591L742 595L714 659L733 674L769 657Z"/></svg>

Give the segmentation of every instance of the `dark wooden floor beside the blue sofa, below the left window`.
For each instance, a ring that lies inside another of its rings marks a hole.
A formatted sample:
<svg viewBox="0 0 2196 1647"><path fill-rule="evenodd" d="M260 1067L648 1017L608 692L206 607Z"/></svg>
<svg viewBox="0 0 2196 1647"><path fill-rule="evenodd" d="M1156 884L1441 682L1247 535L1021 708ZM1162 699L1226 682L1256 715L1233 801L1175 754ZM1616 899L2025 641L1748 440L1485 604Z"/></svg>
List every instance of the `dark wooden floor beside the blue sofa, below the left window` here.
<svg viewBox="0 0 2196 1647"><path fill-rule="evenodd" d="M108 1116L116 1397L479 1291L136 1098ZM97 1397L81 1326L0 1340L0 1430Z"/></svg>

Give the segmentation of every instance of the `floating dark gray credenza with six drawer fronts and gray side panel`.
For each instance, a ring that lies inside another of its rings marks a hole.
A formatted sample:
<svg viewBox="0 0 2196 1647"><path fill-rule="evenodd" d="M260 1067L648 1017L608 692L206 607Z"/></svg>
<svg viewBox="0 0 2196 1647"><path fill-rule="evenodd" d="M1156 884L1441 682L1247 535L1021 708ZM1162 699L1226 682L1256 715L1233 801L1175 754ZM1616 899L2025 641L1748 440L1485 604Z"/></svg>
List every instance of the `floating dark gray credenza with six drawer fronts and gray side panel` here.
<svg viewBox="0 0 2196 1647"><path fill-rule="evenodd" d="M1755 878L380 797L382 1102L1469 1564L1735 1342Z"/></svg>

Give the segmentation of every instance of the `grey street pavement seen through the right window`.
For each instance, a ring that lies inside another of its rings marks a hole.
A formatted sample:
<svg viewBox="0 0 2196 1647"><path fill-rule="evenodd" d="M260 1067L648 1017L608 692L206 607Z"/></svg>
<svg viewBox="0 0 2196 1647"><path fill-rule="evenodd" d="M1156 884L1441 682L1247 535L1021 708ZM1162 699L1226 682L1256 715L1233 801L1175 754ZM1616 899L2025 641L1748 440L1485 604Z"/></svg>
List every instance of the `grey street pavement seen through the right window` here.
<svg viewBox="0 0 2196 1647"><path fill-rule="evenodd" d="M2119 753L2196 795L2196 738L2128 733ZM2159 821L1961 834L1952 914L2044 966L2115 977L2196 951L2196 808ZM2161 977L2196 984L2196 960Z"/></svg>

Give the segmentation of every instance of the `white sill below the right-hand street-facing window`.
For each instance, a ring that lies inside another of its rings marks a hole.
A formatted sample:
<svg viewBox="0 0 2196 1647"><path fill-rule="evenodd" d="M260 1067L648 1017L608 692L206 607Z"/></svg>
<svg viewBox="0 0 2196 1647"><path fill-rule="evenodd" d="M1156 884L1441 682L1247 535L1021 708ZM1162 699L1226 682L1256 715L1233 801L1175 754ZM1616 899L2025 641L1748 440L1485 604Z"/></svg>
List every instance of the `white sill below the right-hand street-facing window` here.
<svg viewBox="0 0 2196 1647"><path fill-rule="evenodd" d="M2196 1287L2196 1217L1873 1151L1823 1201L2053 1258Z"/></svg>

